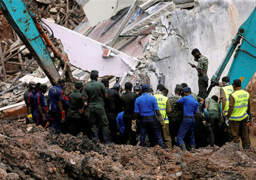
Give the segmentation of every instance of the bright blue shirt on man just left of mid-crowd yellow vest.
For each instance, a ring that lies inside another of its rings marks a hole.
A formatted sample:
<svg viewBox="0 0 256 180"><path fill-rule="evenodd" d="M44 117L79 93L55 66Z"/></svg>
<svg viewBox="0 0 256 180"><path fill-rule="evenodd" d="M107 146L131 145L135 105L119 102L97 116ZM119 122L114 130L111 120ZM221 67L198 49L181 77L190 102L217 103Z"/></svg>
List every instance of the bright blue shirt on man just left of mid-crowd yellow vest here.
<svg viewBox="0 0 256 180"><path fill-rule="evenodd" d="M140 113L142 116L155 115L155 110L159 108L154 96L143 93L135 100L134 113Z"/></svg>

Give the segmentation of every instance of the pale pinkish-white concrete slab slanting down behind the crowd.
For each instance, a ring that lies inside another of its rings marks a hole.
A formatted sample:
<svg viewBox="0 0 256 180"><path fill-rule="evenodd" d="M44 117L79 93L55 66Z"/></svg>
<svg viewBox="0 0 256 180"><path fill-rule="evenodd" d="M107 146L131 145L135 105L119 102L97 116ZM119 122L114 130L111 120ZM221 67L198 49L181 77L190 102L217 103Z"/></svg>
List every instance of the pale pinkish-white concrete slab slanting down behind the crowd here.
<svg viewBox="0 0 256 180"><path fill-rule="evenodd" d="M46 19L43 19L43 22L49 25L55 37L61 40L64 51L68 54L72 65L82 70L98 70L99 76L114 75L120 77L124 72L131 70L129 66L121 61L122 58L131 66L137 65L138 59L136 58L94 41L89 37L82 36L70 29L48 22ZM104 49L110 49L116 56L102 58Z"/></svg>

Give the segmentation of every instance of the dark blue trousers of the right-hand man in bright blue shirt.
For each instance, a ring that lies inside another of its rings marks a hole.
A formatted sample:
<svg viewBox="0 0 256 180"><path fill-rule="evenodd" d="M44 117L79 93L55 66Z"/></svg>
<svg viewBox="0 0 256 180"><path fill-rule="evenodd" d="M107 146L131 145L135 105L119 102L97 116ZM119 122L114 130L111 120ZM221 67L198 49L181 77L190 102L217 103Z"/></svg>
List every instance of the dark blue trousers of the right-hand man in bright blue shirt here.
<svg viewBox="0 0 256 180"><path fill-rule="evenodd" d="M195 130L196 122L195 119L183 118L181 122L179 132L177 134L177 144L184 144L183 139L185 135L189 133L190 145L196 145L194 130Z"/></svg>

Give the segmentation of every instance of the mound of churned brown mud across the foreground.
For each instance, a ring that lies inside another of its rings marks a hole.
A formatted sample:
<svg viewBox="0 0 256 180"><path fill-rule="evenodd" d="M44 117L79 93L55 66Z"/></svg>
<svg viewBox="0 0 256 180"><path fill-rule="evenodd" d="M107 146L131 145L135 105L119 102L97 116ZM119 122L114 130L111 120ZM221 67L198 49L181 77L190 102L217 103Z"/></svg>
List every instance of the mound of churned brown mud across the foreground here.
<svg viewBox="0 0 256 180"><path fill-rule="evenodd" d="M161 149L102 145L86 136L52 136L41 126L2 122L0 179L254 179L256 148L233 143Z"/></svg>

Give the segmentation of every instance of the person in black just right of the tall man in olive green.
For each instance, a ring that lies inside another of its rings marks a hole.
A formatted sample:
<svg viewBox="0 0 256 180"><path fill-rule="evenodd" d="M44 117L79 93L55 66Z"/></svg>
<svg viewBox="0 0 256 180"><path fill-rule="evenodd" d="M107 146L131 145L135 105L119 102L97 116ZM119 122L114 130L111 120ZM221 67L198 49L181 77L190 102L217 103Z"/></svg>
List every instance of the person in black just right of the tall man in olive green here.
<svg viewBox="0 0 256 180"><path fill-rule="evenodd" d="M102 79L101 83L103 83L106 87L106 91L108 92L108 99L105 100L105 111L106 116L109 121L109 131L111 135L112 142L115 142L115 137L117 135L117 114L119 113L119 104L121 104L121 91L119 88L118 92L114 89L109 89L109 80Z"/></svg>

